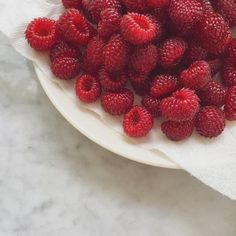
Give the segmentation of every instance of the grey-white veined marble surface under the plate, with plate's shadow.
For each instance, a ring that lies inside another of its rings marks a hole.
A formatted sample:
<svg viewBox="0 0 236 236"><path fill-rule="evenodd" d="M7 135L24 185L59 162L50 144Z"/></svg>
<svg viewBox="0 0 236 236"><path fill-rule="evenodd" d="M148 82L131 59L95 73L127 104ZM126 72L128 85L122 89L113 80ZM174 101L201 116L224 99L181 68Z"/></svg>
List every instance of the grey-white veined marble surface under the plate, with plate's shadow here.
<svg viewBox="0 0 236 236"><path fill-rule="evenodd" d="M235 236L236 202L92 143L0 35L1 236Z"/></svg>

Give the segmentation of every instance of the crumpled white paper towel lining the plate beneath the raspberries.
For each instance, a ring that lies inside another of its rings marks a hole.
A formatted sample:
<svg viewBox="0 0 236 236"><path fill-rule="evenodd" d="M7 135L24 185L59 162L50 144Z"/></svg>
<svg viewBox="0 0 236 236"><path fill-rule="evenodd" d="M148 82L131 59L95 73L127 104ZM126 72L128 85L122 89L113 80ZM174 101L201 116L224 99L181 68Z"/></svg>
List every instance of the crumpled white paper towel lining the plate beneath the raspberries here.
<svg viewBox="0 0 236 236"><path fill-rule="evenodd" d="M60 0L0 0L0 30L20 54L37 64L48 79L55 79L48 66L48 56L29 48L24 40L24 30L33 18L57 18L62 11ZM62 89L67 86L68 91L67 83L60 82L60 86ZM72 90L67 95L71 102L76 102ZM122 132L119 119L105 115L98 104L87 108L99 114L111 128ZM158 126L156 124L148 137L132 142L139 147L158 150L206 185L236 200L236 122L228 123L219 138L209 140L194 134L189 140L178 143L168 141Z"/></svg>

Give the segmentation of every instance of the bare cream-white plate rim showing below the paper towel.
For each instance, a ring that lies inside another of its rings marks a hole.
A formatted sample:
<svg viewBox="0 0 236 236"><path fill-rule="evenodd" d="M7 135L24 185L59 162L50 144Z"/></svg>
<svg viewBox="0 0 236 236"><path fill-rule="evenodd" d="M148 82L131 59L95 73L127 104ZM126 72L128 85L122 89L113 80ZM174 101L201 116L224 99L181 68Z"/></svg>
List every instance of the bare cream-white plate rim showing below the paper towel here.
<svg viewBox="0 0 236 236"><path fill-rule="evenodd" d="M57 84L45 78L43 72L36 66L35 71L39 81L57 110L86 137L98 145L130 160L163 168L180 169L178 165L161 154L139 148L127 143L122 136L107 127L99 117L79 108L76 103L59 88Z"/></svg>

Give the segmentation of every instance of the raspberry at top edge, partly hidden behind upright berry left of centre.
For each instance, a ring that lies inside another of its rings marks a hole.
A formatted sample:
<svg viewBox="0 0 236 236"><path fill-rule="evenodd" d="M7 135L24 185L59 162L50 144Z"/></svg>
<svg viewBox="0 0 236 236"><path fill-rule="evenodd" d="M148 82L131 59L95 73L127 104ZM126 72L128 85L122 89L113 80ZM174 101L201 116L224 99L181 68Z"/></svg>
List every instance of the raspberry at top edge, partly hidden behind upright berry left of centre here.
<svg viewBox="0 0 236 236"><path fill-rule="evenodd" d="M117 0L93 0L89 5L89 12L96 22L100 21L100 13L106 8L119 10L120 4Z"/></svg>

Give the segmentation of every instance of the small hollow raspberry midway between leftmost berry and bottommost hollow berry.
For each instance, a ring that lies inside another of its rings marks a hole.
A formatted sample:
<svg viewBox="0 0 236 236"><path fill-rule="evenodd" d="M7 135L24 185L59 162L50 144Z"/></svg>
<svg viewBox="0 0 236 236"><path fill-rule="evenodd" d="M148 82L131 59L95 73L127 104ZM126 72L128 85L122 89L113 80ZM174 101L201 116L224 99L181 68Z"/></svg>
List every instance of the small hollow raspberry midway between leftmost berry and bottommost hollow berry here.
<svg viewBox="0 0 236 236"><path fill-rule="evenodd" d="M76 82L75 91L82 102L93 103L99 98L101 87L95 77L82 75Z"/></svg>

